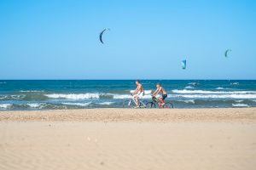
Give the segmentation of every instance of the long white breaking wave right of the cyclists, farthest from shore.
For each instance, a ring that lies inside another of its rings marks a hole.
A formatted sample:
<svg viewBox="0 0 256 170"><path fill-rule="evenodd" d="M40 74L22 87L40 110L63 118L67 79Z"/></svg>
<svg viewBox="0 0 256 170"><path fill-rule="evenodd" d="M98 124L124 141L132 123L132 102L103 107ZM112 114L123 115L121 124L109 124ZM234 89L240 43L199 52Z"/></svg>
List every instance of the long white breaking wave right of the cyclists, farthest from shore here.
<svg viewBox="0 0 256 170"><path fill-rule="evenodd" d="M210 91L210 90L172 90L175 94L256 94L256 91Z"/></svg>

